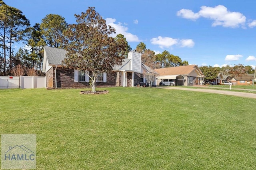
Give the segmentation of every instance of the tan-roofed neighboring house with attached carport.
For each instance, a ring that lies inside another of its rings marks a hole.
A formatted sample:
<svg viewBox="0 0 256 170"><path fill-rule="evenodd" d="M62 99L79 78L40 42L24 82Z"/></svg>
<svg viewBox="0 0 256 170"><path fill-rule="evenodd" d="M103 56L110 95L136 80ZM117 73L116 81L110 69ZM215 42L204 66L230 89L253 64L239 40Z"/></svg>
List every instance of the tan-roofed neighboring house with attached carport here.
<svg viewBox="0 0 256 170"><path fill-rule="evenodd" d="M168 79L174 81L175 85L203 85L204 75L197 65L184 65L179 67L168 67L155 69L159 74L157 79L157 85L162 80Z"/></svg>

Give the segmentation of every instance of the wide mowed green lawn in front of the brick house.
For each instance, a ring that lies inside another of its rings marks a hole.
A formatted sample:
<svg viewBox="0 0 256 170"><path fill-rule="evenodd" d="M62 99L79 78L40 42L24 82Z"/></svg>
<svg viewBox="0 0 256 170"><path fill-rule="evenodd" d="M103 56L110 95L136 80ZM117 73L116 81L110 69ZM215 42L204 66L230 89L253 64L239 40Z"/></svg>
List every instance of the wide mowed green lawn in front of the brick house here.
<svg viewBox="0 0 256 170"><path fill-rule="evenodd" d="M107 89L0 90L0 132L36 134L39 170L256 169L255 99Z"/></svg>

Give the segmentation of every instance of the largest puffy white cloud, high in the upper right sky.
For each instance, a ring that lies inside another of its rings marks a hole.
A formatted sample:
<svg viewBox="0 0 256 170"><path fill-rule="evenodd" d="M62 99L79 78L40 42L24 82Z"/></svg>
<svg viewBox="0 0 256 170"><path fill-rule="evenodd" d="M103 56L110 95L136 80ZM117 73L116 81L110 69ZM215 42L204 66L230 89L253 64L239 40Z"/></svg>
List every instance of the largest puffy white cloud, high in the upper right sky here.
<svg viewBox="0 0 256 170"><path fill-rule="evenodd" d="M182 9L176 13L177 16L182 18L196 20L200 17L213 20L212 26L223 27L242 27L246 22L246 17L240 12L230 12L223 5L215 7L201 6L201 10L198 13L192 12L192 10Z"/></svg>

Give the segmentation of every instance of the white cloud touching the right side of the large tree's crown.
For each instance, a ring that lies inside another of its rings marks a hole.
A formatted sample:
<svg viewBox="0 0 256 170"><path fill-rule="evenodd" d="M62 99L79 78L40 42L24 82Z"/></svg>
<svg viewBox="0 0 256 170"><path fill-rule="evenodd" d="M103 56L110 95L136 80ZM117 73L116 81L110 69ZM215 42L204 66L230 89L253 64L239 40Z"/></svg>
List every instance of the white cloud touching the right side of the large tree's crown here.
<svg viewBox="0 0 256 170"><path fill-rule="evenodd" d="M138 36L127 32L128 27L123 26L121 22L118 22L116 24L116 19L114 18L106 18L105 20L107 25L110 25L116 29L116 34L112 35L113 37L116 37L117 34L122 34L126 38L127 42L140 42Z"/></svg>

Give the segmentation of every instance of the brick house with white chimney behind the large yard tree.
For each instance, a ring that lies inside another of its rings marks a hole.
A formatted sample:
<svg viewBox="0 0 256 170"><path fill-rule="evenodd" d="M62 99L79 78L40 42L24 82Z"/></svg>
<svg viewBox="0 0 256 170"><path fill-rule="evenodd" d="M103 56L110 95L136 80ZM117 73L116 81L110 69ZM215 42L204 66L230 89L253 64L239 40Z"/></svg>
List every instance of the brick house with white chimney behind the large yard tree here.
<svg viewBox="0 0 256 170"><path fill-rule="evenodd" d="M46 74L46 87L85 87L89 86L89 76L84 70L68 69L62 64L66 50L55 47L44 47L43 72ZM135 51L128 53L122 65L113 67L110 73L99 73L96 85L134 87L146 85L145 73L150 68L141 63L141 54Z"/></svg>

